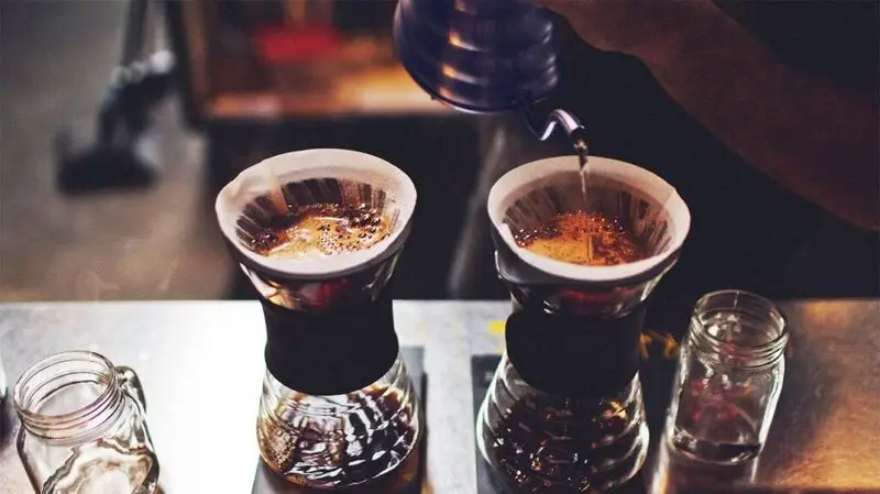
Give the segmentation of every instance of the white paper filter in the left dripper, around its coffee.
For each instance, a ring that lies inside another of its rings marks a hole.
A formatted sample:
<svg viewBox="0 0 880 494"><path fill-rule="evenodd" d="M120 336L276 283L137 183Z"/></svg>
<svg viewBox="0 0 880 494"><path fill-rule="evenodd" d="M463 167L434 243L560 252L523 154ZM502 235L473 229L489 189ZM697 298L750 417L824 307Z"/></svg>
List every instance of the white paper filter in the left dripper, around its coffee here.
<svg viewBox="0 0 880 494"><path fill-rule="evenodd" d="M270 219L320 202L370 205L391 221L392 233L367 249L332 255L275 259L251 250L253 235ZM223 235L242 255L292 276L341 274L370 263L405 240L415 207L416 187L399 168L365 153L331 149L264 160L227 184L215 205Z"/></svg>

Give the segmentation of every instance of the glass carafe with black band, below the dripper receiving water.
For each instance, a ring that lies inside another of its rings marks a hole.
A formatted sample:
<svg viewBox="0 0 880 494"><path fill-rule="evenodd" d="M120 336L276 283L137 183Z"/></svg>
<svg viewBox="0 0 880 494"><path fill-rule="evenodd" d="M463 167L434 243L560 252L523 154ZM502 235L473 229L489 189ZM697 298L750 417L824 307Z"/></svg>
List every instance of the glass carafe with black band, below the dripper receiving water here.
<svg viewBox="0 0 880 494"><path fill-rule="evenodd" d="M623 318L629 328L602 329L585 317L551 328L556 317L529 317L528 328L516 312L508 319L507 351L480 408L477 446L504 492L606 492L631 479L648 451L637 348L625 341L638 338L641 315ZM628 336L608 341L601 331Z"/></svg>

